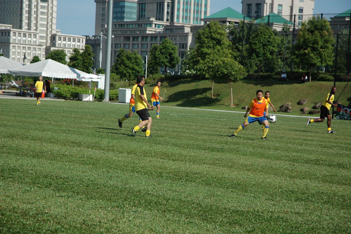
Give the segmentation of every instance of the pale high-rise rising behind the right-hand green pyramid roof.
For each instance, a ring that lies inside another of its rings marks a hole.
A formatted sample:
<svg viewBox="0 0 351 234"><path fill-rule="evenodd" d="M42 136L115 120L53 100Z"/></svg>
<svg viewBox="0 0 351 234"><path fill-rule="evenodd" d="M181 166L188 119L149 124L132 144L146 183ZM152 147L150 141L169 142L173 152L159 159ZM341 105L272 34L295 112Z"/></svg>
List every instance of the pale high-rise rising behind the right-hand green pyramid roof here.
<svg viewBox="0 0 351 234"><path fill-rule="evenodd" d="M288 21L294 20L301 25L302 21L312 18L315 0L242 0L242 14L258 19L275 13Z"/></svg>

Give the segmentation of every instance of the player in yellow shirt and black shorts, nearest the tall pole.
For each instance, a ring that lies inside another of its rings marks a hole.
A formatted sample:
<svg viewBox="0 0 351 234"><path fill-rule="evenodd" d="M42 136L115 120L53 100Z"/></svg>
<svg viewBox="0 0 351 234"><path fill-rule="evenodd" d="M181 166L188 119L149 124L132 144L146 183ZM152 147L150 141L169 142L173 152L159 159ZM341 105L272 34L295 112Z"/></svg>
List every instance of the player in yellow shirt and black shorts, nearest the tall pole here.
<svg viewBox="0 0 351 234"><path fill-rule="evenodd" d="M152 107L146 97L146 92L144 89L145 85L145 78L144 77L138 77L137 78L137 88L135 90L135 110L139 117L141 118L141 122L134 128L131 128L132 135L135 136L136 132L144 127L146 125L146 137L151 137L150 135L150 130L151 130L151 124L152 124L152 118L149 114L149 111L147 108L150 110L154 110L154 106Z"/></svg>

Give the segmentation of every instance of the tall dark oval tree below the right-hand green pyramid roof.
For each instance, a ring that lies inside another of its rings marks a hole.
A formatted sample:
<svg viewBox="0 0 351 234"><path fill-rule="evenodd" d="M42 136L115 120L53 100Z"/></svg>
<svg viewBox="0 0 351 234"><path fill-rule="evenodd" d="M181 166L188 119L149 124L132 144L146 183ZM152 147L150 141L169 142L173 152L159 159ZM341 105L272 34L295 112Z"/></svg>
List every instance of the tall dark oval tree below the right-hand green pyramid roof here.
<svg viewBox="0 0 351 234"><path fill-rule="evenodd" d="M273 30L268 26L260 26L252 35L248 46L248 55L258 68L258 81L261 68L266 61L270 61L277 52L278 40Z"/></svg>

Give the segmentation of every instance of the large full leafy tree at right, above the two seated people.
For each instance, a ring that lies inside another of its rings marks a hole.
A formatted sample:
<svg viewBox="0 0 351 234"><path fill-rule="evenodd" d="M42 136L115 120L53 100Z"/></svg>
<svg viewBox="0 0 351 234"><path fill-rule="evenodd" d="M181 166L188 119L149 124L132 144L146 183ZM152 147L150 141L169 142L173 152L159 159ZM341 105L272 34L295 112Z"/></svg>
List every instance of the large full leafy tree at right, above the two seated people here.
<svg viewBox="0 0 351 234"><path fill-rule="evenodd" d="M295 57L302 67L310 71L310 82L313 67L332 63L333 43L333 32L326 19L318 16L302 23L297 35Z"/></svg>

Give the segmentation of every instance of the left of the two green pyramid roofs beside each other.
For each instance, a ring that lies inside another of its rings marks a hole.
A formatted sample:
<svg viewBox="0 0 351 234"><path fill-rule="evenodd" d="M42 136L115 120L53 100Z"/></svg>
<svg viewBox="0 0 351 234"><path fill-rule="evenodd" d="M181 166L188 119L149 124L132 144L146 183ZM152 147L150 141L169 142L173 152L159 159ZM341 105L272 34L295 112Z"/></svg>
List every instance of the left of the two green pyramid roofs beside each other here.
<svg viewBox="0 0 351 234"><path fill-rule="evenodd" d="M234 24L238 24L239 21L243 21L243 20L251 21L249 17L244 16L243 14L235 11L231 7L227 7L201 20L205 21L205 23L208 23L210 21L219 21L219 23L225 24L225 25L229 25L231 22L233 22Z"/></svg>

